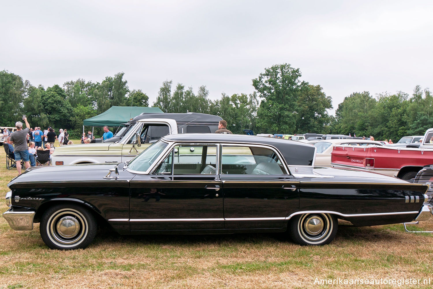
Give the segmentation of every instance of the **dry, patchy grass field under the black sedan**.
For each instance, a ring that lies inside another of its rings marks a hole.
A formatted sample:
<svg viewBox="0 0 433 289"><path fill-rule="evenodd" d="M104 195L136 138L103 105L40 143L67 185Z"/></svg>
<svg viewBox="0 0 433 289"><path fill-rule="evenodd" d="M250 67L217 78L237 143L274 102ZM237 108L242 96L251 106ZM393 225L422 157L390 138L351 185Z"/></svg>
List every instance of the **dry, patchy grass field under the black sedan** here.
<svg viewBox="0 0 433 289"><path fill-rule="evenodd" d="M5 159L0 152L3 200L17 174L6 170ZM0 213L6 210L1 201ZM433 221L416 228L433 231ZM432 234L409 234L395 224L341 226L323 247L301 247L281 234L131 237L102 232L85 250L59 251L42 242L39 224L33 231L13 231L0 218L0 289L433 288L432 250ZM318 284L320 279L335 281ZM340 284L366 280L379 284Z"/></svg>

